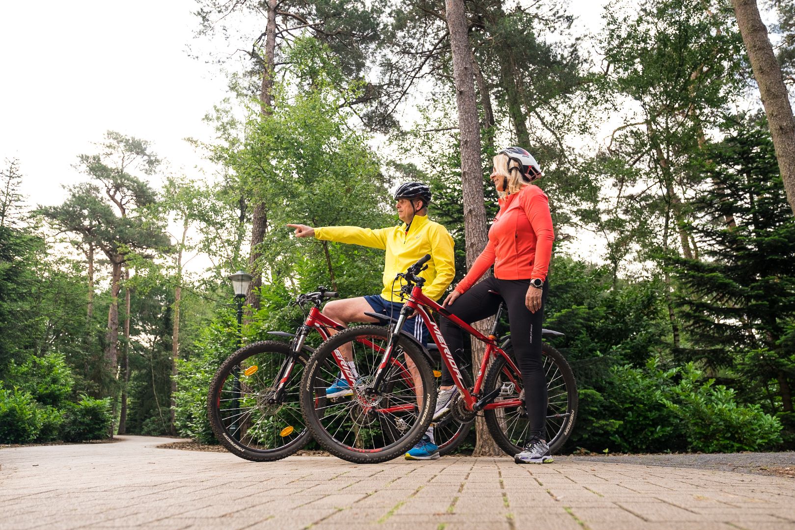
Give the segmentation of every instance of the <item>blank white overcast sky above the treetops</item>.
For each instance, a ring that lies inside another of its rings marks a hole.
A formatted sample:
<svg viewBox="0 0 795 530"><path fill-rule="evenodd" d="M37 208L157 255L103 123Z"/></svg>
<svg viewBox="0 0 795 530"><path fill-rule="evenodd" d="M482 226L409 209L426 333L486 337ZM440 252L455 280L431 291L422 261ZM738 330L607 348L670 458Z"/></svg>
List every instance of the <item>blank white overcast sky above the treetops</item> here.
<svg viewBox="0 0 795 530"><path fill-rule="evenodd" d="M574 0L596 29L603 0ZM64 199L72 164L106 130L153 142L173 170L202 166L184 137L226 95L219 68L188 56L195 0L0 2L0 164L17 157L27 203ZM157 183L153 183L157 184Z"/></svg>

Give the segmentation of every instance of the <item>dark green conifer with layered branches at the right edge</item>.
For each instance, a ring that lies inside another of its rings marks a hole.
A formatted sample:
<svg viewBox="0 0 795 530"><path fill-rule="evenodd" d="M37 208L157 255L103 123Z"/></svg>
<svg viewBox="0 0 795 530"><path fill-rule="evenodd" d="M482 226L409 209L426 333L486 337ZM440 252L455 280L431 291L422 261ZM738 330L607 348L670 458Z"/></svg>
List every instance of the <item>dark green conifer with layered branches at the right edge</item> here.
<svg viewBox="0 0 795 530"><path fill-rule="evenodd" d="M743 396L793 412L795 220L764 120L732 118L701 166L719 183L694 203L702 261L671 258L684 288L681 315L692 346L679 353L727 368ZM737 226L719 219L731 211Z"/></svg>

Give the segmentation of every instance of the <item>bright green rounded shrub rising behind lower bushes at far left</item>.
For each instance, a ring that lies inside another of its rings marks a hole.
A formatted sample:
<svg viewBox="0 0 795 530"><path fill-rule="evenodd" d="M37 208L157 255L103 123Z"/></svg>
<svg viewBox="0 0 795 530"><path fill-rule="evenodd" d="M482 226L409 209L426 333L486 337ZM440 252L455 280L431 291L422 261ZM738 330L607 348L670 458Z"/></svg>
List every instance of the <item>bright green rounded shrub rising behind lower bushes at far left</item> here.
<svg viewBox="0 0 795 530"><path fill-rule="evenodd" d="M56 352L43 357L31 355L21 365L11 362L8 372L9 387L25 389L38 403L53 407L68 399L75 384L64 355Z"/></svg>

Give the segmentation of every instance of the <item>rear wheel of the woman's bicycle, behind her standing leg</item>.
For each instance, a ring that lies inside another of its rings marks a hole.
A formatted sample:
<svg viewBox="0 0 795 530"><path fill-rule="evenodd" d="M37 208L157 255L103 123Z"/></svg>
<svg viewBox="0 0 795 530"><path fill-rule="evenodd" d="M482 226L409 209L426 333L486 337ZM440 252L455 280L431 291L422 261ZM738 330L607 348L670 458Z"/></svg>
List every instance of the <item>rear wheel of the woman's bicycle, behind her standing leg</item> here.
<svg viewBox="0 0 795 530"><path fill-rule="evenodd" d="M574 373L562 354L549 344L541 346L541 360L546 374L548 405L546 417L546 440L549 451L560 451L572 434L577 416L577 388ZM502 357L498 357L489 368L483 382L483 393L500 388L494 403L502 400L522 400L518 407L493 408L484 411L486 424L497 445L508 455L522 451L528 438L529 422L525 411L522 374L514 373Z"/></svg>

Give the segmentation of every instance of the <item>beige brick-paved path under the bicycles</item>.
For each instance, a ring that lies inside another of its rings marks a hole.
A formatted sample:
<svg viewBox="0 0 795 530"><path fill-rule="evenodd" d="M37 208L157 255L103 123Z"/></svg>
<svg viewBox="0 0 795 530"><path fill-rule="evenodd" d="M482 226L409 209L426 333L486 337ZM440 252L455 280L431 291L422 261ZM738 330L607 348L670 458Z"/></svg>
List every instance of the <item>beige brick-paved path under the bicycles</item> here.
<svg viewBox="0 0 795 530"><path fill-rule="evenodd" d="M0 450L0 528L795 530L790 478L565 457L254 463L119 438Z"/></svg>

